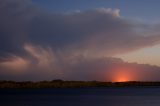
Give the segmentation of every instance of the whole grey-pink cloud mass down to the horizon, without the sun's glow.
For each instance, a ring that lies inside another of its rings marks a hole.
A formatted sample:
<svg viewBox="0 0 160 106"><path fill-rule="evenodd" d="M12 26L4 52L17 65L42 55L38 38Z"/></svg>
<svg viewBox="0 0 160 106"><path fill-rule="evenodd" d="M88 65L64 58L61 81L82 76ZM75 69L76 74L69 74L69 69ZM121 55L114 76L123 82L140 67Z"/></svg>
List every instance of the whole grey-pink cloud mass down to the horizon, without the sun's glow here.
<svg viewBox="0 0 160 106"><path fill-rule="evenodd" d="M113 67L134 69L127 71L133 79L158 79L159 67L106 57L159 44L159 25L109 8L53 14L28 0L0 0L0 16L1 79L112 80Z"/></svg>

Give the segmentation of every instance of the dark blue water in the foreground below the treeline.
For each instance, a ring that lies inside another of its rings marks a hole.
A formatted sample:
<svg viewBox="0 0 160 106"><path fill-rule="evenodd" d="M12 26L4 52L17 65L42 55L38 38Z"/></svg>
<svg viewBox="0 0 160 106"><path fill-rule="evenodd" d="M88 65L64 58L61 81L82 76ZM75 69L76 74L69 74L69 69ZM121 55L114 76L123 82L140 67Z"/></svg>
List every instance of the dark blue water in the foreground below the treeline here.
<svg viewBox="0 0 160 106"><path fill-rule="evenodd" d="M0 90L0 106L160 106L160 88Z"/></svg>

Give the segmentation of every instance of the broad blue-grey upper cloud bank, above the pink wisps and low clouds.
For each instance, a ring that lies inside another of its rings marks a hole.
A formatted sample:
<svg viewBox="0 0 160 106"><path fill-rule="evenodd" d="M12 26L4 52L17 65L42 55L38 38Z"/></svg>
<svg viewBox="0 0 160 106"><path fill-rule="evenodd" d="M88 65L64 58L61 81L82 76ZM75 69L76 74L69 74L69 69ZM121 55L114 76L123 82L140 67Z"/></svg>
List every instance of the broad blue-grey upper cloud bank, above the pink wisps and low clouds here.
<svg viewBox="0 0 160 106"><path fill-rule="evenodd" d="M70 54L110 56L160 42L158 28L156 34L145 36L143 30L149 25L126 20L118 9L51 14L27 0L0 2L1 52L23 51L23 45L31 42ZM136 31L137 27L143 30Z"/></svg>

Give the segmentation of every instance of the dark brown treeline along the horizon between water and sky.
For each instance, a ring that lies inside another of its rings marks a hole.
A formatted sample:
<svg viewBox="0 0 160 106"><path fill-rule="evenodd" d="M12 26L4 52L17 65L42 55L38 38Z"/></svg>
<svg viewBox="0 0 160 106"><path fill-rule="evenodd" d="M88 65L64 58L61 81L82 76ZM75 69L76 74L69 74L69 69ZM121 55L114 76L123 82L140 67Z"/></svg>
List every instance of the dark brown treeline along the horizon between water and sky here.
<svg viewBox="0 0 160 106"><path fill-rule="evenodd" d="M83 88L83 87L160 87L160 82L99 82L99 81L0 81L0 88Z"/></svg>

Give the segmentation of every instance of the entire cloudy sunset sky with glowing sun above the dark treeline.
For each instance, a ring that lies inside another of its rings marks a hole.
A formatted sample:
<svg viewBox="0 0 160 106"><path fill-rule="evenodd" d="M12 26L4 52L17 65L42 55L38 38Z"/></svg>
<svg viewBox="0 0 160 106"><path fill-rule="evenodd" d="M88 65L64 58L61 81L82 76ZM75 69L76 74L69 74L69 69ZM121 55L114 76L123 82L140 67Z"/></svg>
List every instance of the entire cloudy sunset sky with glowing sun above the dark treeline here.
<svg viewBox="0 0 160 106"><path fill-rule="evenodd" d="M160 81L159 0L0 0L0 80Z"/></svg>

